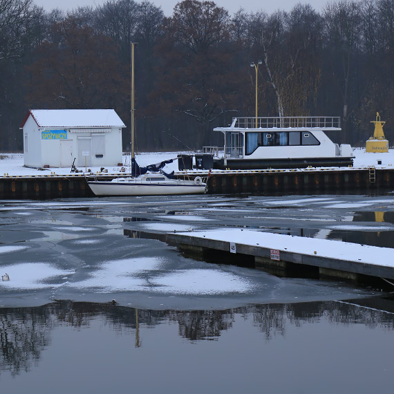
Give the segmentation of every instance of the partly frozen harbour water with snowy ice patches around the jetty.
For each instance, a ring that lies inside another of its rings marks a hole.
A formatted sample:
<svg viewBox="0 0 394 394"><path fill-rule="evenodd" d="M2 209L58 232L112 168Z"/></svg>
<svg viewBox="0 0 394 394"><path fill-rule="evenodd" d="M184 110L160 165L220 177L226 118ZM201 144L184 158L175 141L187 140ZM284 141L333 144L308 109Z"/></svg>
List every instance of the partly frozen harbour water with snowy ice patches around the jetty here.
<svg viewBox="0 0 394 394"><path fill-rule="evenodd" d="M223 227L393 247L394 198L2 201L2 391L392 392L391 294L162 242Z"/></svg>

